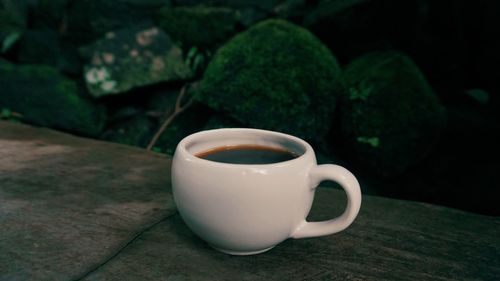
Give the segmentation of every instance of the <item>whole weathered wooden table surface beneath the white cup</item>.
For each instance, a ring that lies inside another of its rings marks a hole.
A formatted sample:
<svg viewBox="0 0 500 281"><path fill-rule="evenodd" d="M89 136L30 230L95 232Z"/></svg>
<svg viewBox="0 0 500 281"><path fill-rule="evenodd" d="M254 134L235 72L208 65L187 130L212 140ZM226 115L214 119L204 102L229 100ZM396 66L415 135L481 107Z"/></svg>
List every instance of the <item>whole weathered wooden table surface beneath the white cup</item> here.
<svg viewBox="0 0 500 281"><path fill-rule="evenodd" d="M170 159L0 122L0 280L500 280L500 219L364 196L326 237L255 256L208 247L176 213ZM320 188L310 219L345 195Z"/></svg>

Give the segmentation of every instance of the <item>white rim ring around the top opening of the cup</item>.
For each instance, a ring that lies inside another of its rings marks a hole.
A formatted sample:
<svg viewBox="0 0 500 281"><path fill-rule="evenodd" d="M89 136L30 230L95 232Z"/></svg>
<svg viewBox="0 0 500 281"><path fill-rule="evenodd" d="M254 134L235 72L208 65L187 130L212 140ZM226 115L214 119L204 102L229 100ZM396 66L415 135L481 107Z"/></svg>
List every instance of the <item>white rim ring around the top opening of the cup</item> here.
<svg viewBox="0 0 500 281"><path fill-rule="evenodd" d="M220 132L231 132L231 133L238 133L238 132L253 132L257 134L266 134L269 136L274 136L274 137L279 137L286 139L288 141L292 141L293 143L299 145L303 149L303 153L301 153L298 157L291 159L291 160L286 160L286 161L281 161L281 162L275 162L275 163L268 163L268 164L238 164L238 163L224 163L224 162L217 162L217 161L212 161L212 160L207 160L200 158L193 153L189 152L187 149L187 146L194 142L195 140L210 136L213 134L217 134ZM189 161L192 162L198 162L201 164L206 164L206 165L221 165L221 166L226 166L226 167L254 167L254 166L260 166L260 167L271 167L271 166L283 166L283 165L289 165L297 162L301 162L303 159L308 157L311 153L313 153L313 149L309 143L307 143L305 140L298 138L296 136L292 136L286 133L281 133L281 132L276 132L276 131L270 131L270 130L263 130L263 129L254 129L254 128L221 128L221 129L210 129L210 130L203 130L199 131L196 133L193 133L191 135L186 136L183 138L179 144L177 145L175 154L182 154L183 158L186 158ZM175 158L175 155L174 155Z"/></svg>

